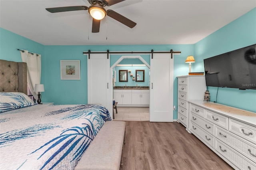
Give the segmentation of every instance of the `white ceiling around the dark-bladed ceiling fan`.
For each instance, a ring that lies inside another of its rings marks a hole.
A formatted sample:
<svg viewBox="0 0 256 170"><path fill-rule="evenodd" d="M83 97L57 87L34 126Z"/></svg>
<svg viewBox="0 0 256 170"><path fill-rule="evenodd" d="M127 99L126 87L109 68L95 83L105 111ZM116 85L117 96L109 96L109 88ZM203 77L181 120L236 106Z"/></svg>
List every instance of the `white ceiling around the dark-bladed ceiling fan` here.
<svg viewBox="0 0 256 170"><path fill-rule="evenodd" d="M112 9L137 23L106 17L92 33L86 11L52 14L45 8L90 6L87 0L0 0L0 27L43 45L194 44L256 7L256 0L126 0ZM107 38L107 40L106 40Z"/></svg>

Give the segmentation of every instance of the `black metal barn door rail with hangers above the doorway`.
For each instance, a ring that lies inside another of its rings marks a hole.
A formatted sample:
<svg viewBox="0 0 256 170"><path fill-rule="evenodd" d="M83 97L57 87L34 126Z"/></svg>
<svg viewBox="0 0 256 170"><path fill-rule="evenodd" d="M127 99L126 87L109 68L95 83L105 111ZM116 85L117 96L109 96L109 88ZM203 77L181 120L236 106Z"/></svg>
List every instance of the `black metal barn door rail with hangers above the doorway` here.
<svg viewBox="0 0 256 170"><path fill-rule="evenodd" d="M172 49L170 51L155 51L153 49L151 49L151 51L115 51L115 52L111 52L109 50L107 50L106 52L91 52L91 50L89 49L88 52L83 52L83 54L89 54L89 59L90 59L90 54L109 54L109 53L113 53L113 54L117 54L117 53L130 53L130 54L136 54L136 53L145 53L145 54L152 54L152 59L153 59L153 53L171 53L171 58L172 58L172 54L173 53L181 53L181 51L173 51Z"/></svg>

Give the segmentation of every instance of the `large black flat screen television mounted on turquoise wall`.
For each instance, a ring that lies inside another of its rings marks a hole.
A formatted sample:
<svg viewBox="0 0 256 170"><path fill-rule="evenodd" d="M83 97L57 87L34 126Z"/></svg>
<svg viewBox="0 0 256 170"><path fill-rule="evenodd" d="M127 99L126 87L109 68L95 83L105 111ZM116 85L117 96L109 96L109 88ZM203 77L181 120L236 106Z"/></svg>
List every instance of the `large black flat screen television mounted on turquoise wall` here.
<svg viewBox="0 0 256 170"><path fill-rule="evenodd" d="M256 44L204 59L206 86L256 89Z"/></svg>

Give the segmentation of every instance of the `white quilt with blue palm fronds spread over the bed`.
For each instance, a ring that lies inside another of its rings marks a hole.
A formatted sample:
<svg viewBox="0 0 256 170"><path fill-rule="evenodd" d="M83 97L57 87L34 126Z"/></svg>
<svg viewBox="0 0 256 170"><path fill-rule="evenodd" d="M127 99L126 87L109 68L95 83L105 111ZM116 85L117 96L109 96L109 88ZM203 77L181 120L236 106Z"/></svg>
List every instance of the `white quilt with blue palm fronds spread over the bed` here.
<svg viewBox="0 0 256 170"><path fill-rule="evenodd" d="M72 170L105 121L101 105L33 105L0 114L0 168Z"/></svg>

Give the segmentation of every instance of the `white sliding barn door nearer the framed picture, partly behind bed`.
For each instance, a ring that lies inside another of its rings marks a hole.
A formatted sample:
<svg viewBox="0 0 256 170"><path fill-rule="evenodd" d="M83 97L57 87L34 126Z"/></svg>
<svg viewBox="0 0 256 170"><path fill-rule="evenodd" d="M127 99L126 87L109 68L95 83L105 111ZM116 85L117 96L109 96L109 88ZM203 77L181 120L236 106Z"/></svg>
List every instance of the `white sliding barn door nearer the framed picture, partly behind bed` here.
<svg viewBox="0 0 256 170"><path fill-rule="evenodd" d="M110 101L110 59L107 54L90 54L87 57L88 104L100 104L112 115Z"/></svg>

